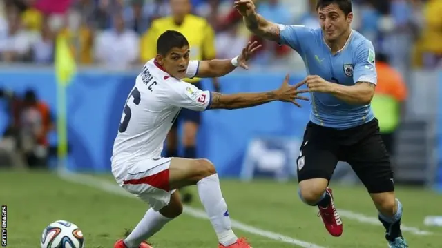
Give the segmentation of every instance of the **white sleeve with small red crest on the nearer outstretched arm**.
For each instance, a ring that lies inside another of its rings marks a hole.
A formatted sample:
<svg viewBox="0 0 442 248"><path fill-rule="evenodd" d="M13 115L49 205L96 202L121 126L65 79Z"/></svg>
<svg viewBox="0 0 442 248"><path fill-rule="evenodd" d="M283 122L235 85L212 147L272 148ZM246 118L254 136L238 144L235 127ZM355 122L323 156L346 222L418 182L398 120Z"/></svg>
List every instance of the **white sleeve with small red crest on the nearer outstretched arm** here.
<svg viewBox="0 0 442 248"><path fill-rule="evenodd" d="M204 111L211 103L211 94L209 91L198 89L195 85L179 81L173 85L169 102L177 107Z"/></svg>

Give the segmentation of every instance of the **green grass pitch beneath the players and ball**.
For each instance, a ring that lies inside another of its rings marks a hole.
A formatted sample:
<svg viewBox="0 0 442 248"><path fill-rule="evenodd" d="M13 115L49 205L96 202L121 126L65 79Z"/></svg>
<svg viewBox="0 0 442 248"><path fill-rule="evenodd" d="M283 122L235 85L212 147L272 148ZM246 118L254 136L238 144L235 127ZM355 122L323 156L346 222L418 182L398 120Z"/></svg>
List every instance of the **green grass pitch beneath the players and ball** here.
<svg viewBox="0 0 442 248"><path fill-rule="evenodd" d="M116 185L112 176L94 176ZM222 180L224 198L231 218L241 223L329 248L387 247L384 229L377 223L360 222L343 216L344 234L330 236L315 209L298 199L296 183L258 180L242 183ZM195 187L192 188L195 190ZM336 207L376 218L376 210L363 187L333 187ZM398 187L403 203L403 224L429 231L417 235L404 231L410 247L442 247L442 227L426 227L423 218L442 214L442 196L429 189ZM111 248L124 229L133 228L144 216L147 205L96 187L80 185L45 172L0 171L0 204L8 205L8 247L39 247L44 227L55 220L68 220L84 233L87 248ZM197 200L192 207L202 209ZM245 231L253 248L297 247ZM209 220L183 214L169 223L150 242L155 248L217 247Z"/></svg>

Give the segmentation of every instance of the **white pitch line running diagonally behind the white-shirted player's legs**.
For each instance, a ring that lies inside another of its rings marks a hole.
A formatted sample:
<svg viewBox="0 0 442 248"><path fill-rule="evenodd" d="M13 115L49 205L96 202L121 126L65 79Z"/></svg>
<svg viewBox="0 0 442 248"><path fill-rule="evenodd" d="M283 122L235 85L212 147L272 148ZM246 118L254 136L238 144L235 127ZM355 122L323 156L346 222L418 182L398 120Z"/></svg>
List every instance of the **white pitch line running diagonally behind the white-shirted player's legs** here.
<svg viewBox="0 0 442 248"><path fill-rule="evenodd" d="M111 194L136 198L136 196L129 194L121 187L118 187L116 184L110 183L106 180L95 178L93 176L60 172L59 177L64 180L73 182L73 183L78 183L78 184L82 184L82 185L87 185L89 187L95 187L97 189L102 189L104 192L108 192ZM192 216L194 218L209 219L206 215L206 212L204 212L200 209L193 208L193 207L188 207L188 206L184 207L184 214L187 214L187 215ZM240 223L238 220L231 219L231 223L232 223L233 228L239 229L242 231L246 231L249 234L255 234L255 235L269 238L272 240L286 242L286 243L296 245L296 246L302 247L302 248L325 248L320 245L305 242L302 240L296 240L294 238L290 238L290 237L284 236L282 234L277 234L272 231L266 231L263 229L259 229L257 227L246 225L244 223Z"/></svg>

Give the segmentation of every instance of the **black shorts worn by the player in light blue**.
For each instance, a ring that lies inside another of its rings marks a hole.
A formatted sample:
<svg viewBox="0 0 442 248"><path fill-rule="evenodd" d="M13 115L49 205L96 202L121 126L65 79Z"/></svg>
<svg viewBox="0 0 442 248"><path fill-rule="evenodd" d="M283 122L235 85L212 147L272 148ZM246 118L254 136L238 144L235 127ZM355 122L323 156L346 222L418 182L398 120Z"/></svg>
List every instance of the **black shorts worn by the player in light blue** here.
<svg viewBox="0 0 442 248"><path fill-rule="evenodd" d="M338 161L352 166L369 193L394 191L390 158L376 118L345 130L307 124L296 161L298 180L330 180Z"/></svg>

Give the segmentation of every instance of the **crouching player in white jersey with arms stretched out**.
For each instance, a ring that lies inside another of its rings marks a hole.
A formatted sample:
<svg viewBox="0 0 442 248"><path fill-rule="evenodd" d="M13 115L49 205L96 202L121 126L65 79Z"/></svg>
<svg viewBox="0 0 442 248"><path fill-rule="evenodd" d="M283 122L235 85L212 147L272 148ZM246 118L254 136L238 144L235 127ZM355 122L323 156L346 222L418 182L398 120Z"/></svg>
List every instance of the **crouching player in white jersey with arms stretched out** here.
<svg viewBox="0 0 442 248"><path fill-rule="evenodd" d="M202 205L218 236L219 248L251 247L231 229L227 204L211 161L162 158L160 154L182 108L232 110L271 101L298 105L296 99L308 100L298 96L307 92L298 90L305 82L289 85L288 76L278 90L238 94L202 91L180 80L223 76L238 65L247 68L245 62L258 47L256 43L249 43L240 56L231 60L189 61L189 42L180 32L166 31L158 38L158 54L144 65L124 106L112 156L112 172L117 183L151 208L126 239L115 243L115 248L150 248L144 241L182 213L175 189L188 185L198 187Z"/></svg>

